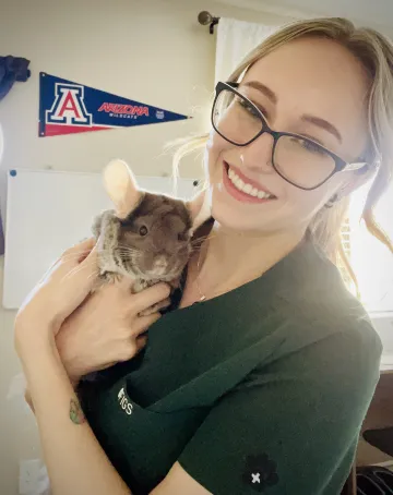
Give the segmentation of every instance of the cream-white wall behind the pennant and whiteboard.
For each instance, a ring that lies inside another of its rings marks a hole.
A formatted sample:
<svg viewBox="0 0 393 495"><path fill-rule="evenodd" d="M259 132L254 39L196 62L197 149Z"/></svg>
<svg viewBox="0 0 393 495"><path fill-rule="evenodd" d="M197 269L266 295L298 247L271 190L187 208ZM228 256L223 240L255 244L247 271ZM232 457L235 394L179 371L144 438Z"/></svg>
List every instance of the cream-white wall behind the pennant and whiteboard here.
<svg viewBox="0 0 393 495"><path fill-rule="evenodd" d="M162 156L163 145L209 126L215 39L198 24L201 10L269 25L288 21L211 0L0 0L0 55L32 61L29 81L16 83L0 104L2 208L4 170L12 167L99 171L119 156L139 174L169 173L170 157ZM40 71L194 119L38 138ZM198 161L184 162L183 177L200 173ZM13 318L13 312L0 309L1 495L17 494L19 460L39 456L34 418L21 398L7 399L11 379L21 371Z"/></svg>

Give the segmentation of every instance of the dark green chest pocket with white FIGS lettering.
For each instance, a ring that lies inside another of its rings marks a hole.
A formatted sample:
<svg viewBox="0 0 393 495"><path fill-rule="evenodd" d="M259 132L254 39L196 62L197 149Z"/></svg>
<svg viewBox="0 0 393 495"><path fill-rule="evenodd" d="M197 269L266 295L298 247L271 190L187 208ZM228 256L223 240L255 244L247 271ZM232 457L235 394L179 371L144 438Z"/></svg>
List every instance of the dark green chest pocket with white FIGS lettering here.
<svg viewBox="0 0 393 495"><path fill-rule="evenodd" d="M126 379L95 402L92 428L110 461L135 495L150 493L166 476L210 408L153 411L132 399Z"/></svg>

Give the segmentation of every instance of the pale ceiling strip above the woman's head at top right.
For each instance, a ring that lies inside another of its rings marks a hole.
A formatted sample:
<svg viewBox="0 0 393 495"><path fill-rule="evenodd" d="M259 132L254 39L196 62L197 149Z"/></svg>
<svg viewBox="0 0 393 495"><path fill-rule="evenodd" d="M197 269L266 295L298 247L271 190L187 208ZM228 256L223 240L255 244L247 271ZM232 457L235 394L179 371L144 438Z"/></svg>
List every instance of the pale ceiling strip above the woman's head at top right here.
<svg viewBox="0 0 393 495"><path fill-rule="evenodd" d="M393 33L393 0L219 0L237 8L261 10L294 17L329 15L349 17Z"/></svg>

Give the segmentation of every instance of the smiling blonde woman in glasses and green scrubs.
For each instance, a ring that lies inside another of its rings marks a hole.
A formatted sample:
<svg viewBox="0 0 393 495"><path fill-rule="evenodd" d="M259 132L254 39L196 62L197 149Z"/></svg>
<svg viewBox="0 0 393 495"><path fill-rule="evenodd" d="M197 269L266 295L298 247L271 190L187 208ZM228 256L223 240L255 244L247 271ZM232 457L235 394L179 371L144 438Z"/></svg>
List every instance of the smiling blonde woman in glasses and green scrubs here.
<svg viewBox="0 0 393 495"><path fill-rule="evenodd" d="M19 313L56 495L336 495L348 475L381 342L329 258L371 179L364 217L392 249L372 208L392 171L393 48L345 20L298 22L228 81L199 141L211 218L177 311L136 316L167 297L162 285L85 300L87 242Z"/></svg>

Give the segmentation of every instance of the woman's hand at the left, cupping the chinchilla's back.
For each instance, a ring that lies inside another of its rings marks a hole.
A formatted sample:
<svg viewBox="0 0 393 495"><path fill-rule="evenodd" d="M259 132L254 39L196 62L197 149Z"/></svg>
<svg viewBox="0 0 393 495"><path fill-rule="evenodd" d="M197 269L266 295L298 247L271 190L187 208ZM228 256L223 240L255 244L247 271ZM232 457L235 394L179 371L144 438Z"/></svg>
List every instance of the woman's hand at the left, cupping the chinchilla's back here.
<svg viewBox="0 0 393 495"><path fill-rule="evenodd" d="M86 299L98 273L93 247L90 239L67 250L28 294L16 314L16 343L56 336Z"/></svg>

